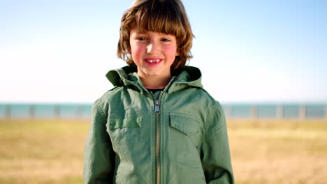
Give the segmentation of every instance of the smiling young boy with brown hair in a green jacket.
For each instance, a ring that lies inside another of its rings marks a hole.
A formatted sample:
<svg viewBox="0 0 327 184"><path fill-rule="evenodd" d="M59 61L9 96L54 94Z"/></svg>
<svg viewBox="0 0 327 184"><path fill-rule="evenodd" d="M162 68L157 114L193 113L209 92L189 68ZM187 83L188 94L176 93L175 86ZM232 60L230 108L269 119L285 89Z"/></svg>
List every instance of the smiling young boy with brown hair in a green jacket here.
<svg viewBox="0 0 327 184"><path fill-rule="evenodd" d="M180 0L136 0L117 54L129 66L96 100L84 183L234 183L224 113L185 66L193 34Z"/></svg>

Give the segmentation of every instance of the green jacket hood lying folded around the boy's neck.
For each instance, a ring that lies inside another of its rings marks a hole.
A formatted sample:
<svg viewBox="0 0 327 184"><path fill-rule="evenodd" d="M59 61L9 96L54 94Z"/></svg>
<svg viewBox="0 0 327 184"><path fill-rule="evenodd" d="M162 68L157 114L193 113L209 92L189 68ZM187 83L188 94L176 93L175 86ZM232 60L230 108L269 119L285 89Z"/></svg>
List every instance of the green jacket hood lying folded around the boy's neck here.
<svg viewBox="0 0 327 184"><path fill-rule="evenodd" d="M106 77L113 86L143 85L140 77L137 75L137 68L134 66L124 66L115 70L110 70ZM201 84L201 71L193 66L184 66L180 70L172 73L173 78L170 80L166 89L168 92L184 88L185 86L193 86L203 89ZM138 86L139 88L139 86Z"/></svg>

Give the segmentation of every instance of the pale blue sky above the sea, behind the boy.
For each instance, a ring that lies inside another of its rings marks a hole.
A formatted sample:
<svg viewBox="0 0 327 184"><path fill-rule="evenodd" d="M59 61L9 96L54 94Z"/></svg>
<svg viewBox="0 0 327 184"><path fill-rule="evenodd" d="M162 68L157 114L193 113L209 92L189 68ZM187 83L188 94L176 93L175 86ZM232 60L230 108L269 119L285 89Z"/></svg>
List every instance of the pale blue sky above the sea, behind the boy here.
<svg viewBox="0 0 327 184"><path fill-rule="evenodd" d="M133 1L1 1L0 102L93 102ZM201 3L199 3L201 2ZM221 102L327 102L327 1L183 1Z"/></svg>

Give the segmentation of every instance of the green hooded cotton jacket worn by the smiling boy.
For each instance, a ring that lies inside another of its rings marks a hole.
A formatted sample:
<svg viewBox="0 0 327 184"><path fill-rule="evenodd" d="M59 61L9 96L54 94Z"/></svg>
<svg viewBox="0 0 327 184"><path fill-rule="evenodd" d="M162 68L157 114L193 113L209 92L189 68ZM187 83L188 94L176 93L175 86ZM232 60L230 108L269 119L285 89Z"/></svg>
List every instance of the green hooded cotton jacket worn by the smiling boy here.
<svg viewBox="0 0 327 184"><path fill-rule="evenodd" d="M186 66L150 93L126 66L96 100L85 145L84 183L234 183L224 112Z"/></svg>

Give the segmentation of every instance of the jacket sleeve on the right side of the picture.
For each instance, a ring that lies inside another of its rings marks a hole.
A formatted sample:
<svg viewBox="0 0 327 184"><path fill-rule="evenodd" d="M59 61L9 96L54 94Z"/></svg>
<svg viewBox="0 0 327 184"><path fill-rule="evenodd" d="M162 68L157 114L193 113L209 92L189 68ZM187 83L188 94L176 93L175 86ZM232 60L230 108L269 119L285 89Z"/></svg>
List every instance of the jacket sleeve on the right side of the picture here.
<svg viewBox="0 0 327 184"><path fill-rule="evenodd" d="M208 114L205 125L204 139L201 144L205 181L210 184L234 183L226 121L223 109L218 102Z"/></svg>

